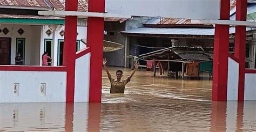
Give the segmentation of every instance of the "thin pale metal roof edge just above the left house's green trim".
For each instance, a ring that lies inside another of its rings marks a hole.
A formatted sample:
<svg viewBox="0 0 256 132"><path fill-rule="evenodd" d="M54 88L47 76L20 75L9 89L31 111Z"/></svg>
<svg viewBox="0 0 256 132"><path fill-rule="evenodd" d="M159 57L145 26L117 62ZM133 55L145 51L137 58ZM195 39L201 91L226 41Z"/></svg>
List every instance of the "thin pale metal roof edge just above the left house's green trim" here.
<svg viewBox="0 0 256 132"><path fill-rule="evenodd" d="M64 18L59 17L48 17L48 16L30 16L30 15L18 15L18 14L0 14L0 18L15 18L15 19L59 19L64 20Z"/></svg>

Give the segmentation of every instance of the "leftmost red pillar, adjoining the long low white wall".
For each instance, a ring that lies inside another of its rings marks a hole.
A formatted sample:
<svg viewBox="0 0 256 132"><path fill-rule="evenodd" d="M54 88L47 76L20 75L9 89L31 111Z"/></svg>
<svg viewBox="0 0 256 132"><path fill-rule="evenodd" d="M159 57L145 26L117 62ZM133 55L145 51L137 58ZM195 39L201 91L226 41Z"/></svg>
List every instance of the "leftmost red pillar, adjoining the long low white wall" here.
<svg viewBox="0 0 256 132"><path fill-rule="evenodd" d="M66 11L77 11L77 0L66 0ZM65 17L63 65L66 66L66 102L74 101L77 17Z"/></svg>

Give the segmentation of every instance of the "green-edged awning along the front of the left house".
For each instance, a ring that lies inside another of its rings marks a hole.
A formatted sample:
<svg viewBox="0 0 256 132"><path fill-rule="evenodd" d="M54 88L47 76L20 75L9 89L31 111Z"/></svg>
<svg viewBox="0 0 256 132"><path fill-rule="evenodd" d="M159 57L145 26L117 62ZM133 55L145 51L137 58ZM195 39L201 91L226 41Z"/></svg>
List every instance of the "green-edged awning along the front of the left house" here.
<svg viewBox="0 0 256 132"><path fill-rule="evenodd" d="M41 24L41 25L63 25L64 18L49 16L30 16L17 14L0 14L0 23L5 24Z"/></svg>

